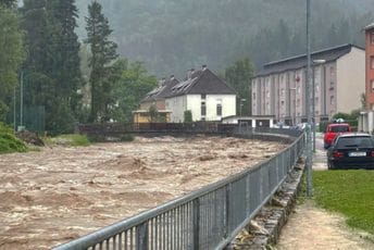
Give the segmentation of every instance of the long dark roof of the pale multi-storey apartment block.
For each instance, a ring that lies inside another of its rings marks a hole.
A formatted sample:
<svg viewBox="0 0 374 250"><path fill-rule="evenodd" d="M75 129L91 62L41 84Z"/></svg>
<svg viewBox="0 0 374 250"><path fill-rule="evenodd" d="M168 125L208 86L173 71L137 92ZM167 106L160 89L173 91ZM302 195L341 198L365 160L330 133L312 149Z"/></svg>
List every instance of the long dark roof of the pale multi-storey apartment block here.
<svg viewBox="0 0 374 250"><path fill-rule="evenodd" d="M342 46L337 46L311 53L311 60L325 60L326 62L333 62L340 57L349 53L352 47L364 50L357 46L347 43ZM282 73L291 70L299 70L307 66L307 54L300 54L292 58L287 58L279 61L270 62L263 65L263 68L258 72L255 76L265 76L274 73Z"/></svg>

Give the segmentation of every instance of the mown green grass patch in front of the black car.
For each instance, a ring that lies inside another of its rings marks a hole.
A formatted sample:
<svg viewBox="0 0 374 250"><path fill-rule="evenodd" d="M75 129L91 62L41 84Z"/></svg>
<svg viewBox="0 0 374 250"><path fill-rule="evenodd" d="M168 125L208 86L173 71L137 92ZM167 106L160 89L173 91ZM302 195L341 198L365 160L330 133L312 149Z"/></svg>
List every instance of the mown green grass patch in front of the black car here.
<svg viewBox="0 0 374 250"><path fill-rule="evenodd" d="M319 205L374 235L374 171L314 171L313 183Z"/></svg>

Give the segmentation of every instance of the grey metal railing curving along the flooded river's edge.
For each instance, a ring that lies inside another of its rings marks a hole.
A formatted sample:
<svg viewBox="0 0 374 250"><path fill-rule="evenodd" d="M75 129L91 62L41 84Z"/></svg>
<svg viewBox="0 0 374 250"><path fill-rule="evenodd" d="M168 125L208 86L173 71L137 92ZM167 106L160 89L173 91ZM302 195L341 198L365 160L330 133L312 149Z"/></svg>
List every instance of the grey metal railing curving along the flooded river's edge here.
<svg viewBox="0 0 374 250"><path fill-rule="evenodd" d="M234 136L298 137L251 168L55 249L223 249L274 195L303 151L302 132L266 130L267 135L249 129Z"/></svg>

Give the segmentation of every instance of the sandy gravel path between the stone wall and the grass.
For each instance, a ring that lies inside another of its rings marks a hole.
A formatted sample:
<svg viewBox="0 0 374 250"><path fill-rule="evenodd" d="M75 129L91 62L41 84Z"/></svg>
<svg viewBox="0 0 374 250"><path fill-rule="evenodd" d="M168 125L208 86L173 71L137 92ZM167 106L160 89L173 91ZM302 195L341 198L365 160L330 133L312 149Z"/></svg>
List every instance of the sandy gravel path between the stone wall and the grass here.
<svg viewBox="0 0 374 250"><path fill-rule="evenodd" d="M278 250L374 249L373 236L353 230L341 215L315 207L312 200L298 204L283 227Z"/></svg>

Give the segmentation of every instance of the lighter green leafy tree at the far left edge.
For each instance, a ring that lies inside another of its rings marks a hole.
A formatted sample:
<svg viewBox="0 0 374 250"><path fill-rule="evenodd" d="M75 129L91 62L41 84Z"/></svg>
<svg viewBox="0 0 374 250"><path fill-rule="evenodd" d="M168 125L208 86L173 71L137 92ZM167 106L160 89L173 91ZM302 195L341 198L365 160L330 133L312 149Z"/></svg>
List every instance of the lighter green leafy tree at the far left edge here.
<svg viewBox="0 0 374 250"><path fill-rule="evenodd" d="M23 32L15 10L0 5L0 122L12 103L17 72L24 60Z"/></svg>

